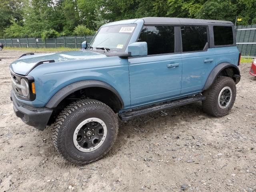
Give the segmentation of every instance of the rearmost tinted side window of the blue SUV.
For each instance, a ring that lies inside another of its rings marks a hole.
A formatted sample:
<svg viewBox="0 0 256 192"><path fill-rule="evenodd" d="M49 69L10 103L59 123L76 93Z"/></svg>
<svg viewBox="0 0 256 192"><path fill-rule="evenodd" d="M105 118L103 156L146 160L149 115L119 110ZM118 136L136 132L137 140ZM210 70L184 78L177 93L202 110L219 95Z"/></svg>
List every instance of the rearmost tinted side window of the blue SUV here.
<svg viewBox="0 0 256 192"><path fill-rule="evenodd" d="M231 26L213 26L214 45L232 45L233 30Z"/></svg>

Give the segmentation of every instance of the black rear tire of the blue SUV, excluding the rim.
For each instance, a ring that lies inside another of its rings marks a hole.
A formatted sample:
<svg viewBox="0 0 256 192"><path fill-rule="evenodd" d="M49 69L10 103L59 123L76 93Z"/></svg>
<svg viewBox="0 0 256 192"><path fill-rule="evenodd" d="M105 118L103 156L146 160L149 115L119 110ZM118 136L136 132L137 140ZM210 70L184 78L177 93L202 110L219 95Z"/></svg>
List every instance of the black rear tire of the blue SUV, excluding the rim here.
<svg viewBox="0 0 256 192"><path fill-rule="evenodd" d="M218 105L218 96L221 90L226 86L231 88L232 97L228 106L222 109ZM206 96L206 100L202 101L204 112L212 116L221 117L228 114L234 105L236 100L236 84L230 77L218 76L213 85L203 92L203 95Z"/></svg>

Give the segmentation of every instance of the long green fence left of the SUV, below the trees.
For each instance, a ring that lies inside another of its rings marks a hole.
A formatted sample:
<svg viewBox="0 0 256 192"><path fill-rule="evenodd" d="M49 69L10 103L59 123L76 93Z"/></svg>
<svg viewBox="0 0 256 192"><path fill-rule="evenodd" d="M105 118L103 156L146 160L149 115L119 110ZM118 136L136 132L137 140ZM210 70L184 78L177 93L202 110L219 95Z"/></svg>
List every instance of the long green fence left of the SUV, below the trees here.
<svg viewBox="0 0 256 192"><path fill-rule="evenodd" d="M91 42L93 36L57 37L57 38L4 38L0 42L6 47L16 48L81 48L81 43Z"/></svg>

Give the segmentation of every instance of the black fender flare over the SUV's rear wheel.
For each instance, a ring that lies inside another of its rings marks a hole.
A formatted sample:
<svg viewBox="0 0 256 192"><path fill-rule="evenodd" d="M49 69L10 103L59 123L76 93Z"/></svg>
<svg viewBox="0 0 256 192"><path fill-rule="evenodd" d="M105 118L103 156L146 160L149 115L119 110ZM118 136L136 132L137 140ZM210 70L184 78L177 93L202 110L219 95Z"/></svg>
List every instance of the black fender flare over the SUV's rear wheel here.
<svg viewBox="0 0 256 192"><path fill-rule="evenodd" d="M204 84L204 90L207 90L208 88L210 88L210 86L212 86L212 84L214 83L214 81L216 80L216 78L218 77L218 75L220 74L220 72L222 72L222 70L226 69L226 68L233 68L235 70L234 75L238 75L235 78L238 78L238 80L236 80L235 82L238 83L240 81L240 70L236 65L227 63L227 62L223 62L218 64L217 66L215 66L213 68L213 70L210 72L210 75L208 76L205 84Z"/></svg>

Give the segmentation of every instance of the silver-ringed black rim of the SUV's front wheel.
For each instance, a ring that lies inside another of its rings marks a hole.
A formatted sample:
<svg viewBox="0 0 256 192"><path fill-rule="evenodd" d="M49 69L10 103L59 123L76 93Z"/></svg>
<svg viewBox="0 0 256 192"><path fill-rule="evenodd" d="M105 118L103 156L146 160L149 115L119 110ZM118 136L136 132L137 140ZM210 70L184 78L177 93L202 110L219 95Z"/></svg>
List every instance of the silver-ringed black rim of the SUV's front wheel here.
<svg viewBox="0 0 256 192"><path fill-rule="evenodd" d="M88 118L82 121L74 131L74 146L82 152L92 152L99 148L107 135L107 127L99 118Z"/></svg>

